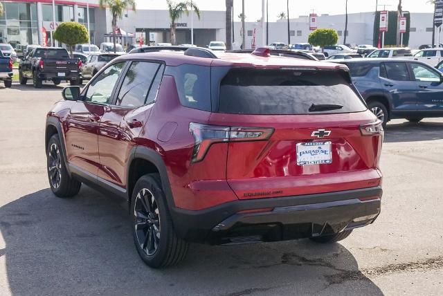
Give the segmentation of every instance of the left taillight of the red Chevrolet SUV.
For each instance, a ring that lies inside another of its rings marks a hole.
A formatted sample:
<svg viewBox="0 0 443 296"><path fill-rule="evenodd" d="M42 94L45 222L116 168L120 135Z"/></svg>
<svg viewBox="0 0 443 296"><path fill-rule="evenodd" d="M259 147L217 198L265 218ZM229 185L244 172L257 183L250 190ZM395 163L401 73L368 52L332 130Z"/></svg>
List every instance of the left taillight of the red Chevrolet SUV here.
<svg viewBox="0 0 443 296"><path fill-rule="evenodd" d="M189 131L195 144L191 163L203 160L210 145L220 142L245 142L268 140L274 129L262 127L220 127L191 122Z"/></svg>

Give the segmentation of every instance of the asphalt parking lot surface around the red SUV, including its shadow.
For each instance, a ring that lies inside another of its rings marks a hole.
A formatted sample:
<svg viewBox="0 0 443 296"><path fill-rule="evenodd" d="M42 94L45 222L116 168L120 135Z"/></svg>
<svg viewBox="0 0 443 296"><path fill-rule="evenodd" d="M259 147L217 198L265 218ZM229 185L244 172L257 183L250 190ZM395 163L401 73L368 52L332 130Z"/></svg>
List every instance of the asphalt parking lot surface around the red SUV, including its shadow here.
<svg viewBox="0 0 443 296"><path fill-rule="evenodd" d="M442 295L443 118L388 124L381 215L341 243L191 245L152 270L125 201L48 188L45 115L62 86L0 87L1 295Z"/></svg>

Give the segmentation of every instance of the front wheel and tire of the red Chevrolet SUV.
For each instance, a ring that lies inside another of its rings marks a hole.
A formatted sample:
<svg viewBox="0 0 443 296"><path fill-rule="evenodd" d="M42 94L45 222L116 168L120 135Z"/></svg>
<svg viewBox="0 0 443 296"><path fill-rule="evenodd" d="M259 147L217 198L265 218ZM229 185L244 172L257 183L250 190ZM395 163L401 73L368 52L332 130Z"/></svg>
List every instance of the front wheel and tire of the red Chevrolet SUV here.
<svg viewBox="0 0 443 296"><path fill-rule="evenodd" d="M66 198L78 194L82 183L71 178L64 163L62 145L58 134L49 139L46 150L48 181L55 196Z"/></svg>

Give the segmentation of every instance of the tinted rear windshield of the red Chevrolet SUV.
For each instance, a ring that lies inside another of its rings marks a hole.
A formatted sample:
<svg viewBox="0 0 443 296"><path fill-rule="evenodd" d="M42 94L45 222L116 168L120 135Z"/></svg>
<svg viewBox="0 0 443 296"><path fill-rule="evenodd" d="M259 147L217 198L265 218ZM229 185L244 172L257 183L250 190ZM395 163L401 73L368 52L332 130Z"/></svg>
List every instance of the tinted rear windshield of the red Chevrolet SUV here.
<svg viewBox="0 0 443 296"><path fill-rule="evenodd" d="M312 104L341 109L309 111ZM350 113L366 109L338 71L232 68L221 80L219 112L257 115Z"/></svg>

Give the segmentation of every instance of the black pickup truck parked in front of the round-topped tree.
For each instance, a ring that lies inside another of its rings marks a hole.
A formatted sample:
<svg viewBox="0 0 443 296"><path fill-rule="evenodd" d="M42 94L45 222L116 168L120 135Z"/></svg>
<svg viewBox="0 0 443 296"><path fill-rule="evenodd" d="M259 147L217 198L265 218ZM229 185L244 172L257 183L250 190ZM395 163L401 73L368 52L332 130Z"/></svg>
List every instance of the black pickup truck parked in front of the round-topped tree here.
<svg viewBox="0 0 443 296"><path fill-rule="evenodd" d="M62 80L78 85L80 82L80 59L71 59L65 48L37 47L19 64L20 84L26 84L28 78L33 79L34 87L42 87L44 80L52 80L57 85Z"/></svg>

